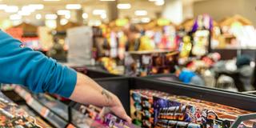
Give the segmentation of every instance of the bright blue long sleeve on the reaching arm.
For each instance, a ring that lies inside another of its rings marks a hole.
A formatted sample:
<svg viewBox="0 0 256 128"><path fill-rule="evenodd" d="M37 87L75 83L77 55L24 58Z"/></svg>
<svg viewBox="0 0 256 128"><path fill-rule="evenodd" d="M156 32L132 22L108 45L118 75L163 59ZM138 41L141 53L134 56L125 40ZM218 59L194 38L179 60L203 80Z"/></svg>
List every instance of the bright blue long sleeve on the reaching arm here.
<svg viewBox="0 0 256 128"><path fill-rule="evenodd" d="M69 98L77 73L0 30L0 83L27 86L35 93L49 92Z"/></svg>

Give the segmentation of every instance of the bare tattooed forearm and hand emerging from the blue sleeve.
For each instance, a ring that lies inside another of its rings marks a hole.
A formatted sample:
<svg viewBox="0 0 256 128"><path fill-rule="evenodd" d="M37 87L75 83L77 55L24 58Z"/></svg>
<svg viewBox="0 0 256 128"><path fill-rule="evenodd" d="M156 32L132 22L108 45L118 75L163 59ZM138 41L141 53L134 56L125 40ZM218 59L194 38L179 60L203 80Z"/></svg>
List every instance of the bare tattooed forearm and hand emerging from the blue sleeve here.
<svg viewBox="0 0 256 128"><path fill-rule="evenodd" d="M78 73L78 81L70 99L85 104L108 106L118 117L125 119L127 122L131 122L130 117L126 114L118 97L108 90L103 89L101 86L98 86L96 82L86 75Z"/></svg>

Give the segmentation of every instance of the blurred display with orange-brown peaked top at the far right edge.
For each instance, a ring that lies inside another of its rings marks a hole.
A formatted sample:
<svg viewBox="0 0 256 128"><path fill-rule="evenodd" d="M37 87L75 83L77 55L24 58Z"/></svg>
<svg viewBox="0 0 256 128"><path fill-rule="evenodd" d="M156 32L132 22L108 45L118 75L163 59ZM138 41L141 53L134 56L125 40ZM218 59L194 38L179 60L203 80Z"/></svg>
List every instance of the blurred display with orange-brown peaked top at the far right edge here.
<svg viewBox="0 0 256 128"><path fill-rule="evenodd" d="M254 49L255 28L252 22L241 15L224 18L219 28L214 28L214 48Z"/></svg>

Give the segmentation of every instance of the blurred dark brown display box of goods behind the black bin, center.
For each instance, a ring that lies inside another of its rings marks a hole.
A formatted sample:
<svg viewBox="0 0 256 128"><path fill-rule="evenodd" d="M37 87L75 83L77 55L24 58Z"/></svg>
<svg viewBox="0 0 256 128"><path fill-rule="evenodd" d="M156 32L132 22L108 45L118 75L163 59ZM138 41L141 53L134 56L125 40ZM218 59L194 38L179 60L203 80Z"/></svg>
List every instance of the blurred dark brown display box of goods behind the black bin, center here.
<svg viewBox="0 0 256 128"><path fill-rule="evenodd" d="M170 50L129 52L125 60L125 74L128 76L146 76L172 73L175 70L177 56L177 51Z"/></svg>

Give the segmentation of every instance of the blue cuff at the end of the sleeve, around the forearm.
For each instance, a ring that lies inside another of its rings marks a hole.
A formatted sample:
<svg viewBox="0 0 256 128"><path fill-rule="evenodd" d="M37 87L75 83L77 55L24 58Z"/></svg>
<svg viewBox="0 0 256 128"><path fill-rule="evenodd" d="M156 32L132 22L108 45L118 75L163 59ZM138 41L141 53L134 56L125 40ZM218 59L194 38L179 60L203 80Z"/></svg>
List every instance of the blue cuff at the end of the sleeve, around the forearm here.
<svg viewBox="0 0 256 128"><path fill-rule="evenodd" d="M77 84L77 72L66 66L64 68L66 70L66 76L59 94L62 95L62 97L70 98L74 91L74 87Z"/></svg>

